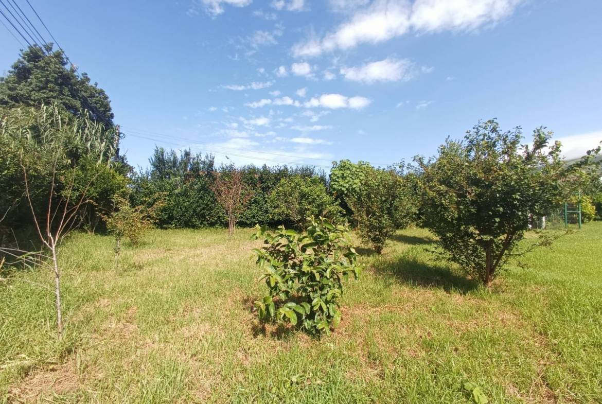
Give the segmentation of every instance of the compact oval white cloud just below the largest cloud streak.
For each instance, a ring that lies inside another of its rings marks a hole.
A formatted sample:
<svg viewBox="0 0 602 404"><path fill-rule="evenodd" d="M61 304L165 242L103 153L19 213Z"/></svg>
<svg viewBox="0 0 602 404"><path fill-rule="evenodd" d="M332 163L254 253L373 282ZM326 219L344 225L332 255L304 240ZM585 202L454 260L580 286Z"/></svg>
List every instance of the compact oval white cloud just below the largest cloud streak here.
<svg viewBox="0 0 602 404"><path fill-rule="evenodd" d="M343 67L347 80L372 83L375 81L408 81L414 78L414 64L408 59L386 58L363 66Z"/></svg>

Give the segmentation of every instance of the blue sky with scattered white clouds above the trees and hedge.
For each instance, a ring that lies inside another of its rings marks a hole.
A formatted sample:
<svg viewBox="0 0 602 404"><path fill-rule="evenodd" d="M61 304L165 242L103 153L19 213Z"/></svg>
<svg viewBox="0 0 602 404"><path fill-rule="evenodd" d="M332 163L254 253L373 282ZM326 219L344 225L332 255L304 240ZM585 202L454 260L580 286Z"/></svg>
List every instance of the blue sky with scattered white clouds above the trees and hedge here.
<svg viewBox="0 0 602 404"><path fill-rule="evenodd" d="M134 166L155 144L390 164L491 117L547 126L568 157L602 140L599 0L30 1L107 91ZM0 28L1 71L19 48Z"/></svg>

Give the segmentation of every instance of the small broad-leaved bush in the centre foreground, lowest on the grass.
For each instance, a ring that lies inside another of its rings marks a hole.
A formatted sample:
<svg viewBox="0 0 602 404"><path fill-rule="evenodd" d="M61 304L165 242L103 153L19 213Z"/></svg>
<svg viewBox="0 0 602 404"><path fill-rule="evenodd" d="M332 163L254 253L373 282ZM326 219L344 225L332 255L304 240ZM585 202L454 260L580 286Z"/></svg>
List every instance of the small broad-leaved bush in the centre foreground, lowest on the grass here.
<svg viewBox="0 0 602 404"><path fill-rule="evenodd" d="M358 279L361 272L347 226L311 218L303 233L284 226L274 234L259 225L256 230L265 246L253 251L269 289L255 302L259 318L288 321L314 335L337 327L342 279L350 274Z"/></svg>

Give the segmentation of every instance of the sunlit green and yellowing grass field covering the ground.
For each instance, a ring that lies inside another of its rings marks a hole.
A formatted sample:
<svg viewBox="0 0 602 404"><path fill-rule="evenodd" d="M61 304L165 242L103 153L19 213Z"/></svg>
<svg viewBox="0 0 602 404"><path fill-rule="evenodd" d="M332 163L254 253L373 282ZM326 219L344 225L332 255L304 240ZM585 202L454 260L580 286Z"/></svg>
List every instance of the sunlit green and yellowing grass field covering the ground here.
<svg viewBox="0 0 602 404"><path fill-rule="evenodd" d="M399 232L350 282L343 322L314 340L263 329L250 230L153 231L126 247L64 245L66 336L48 272L0 284L0 402L602 402L602 223L513 265L491 291L433 261L432 237Z"/></svg>

